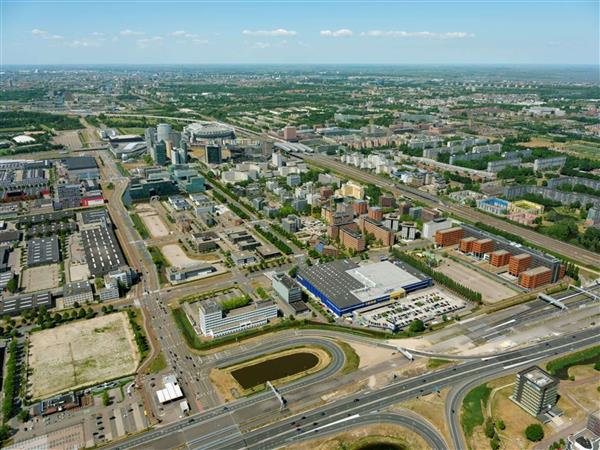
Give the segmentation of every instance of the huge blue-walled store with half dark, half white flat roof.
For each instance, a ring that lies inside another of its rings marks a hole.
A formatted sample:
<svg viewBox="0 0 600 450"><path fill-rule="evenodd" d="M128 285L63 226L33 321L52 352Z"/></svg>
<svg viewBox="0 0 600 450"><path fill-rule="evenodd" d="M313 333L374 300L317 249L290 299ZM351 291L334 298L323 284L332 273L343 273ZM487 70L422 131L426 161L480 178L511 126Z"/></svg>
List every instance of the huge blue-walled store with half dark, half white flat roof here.
<svg viewBox="0 0 600 450"><path fill-rule="evenodd" d="M431 286L431 278L389 261L337 260L302 268L297 281L338 316ZM410 272L412 273L409 273Z"/></svg>

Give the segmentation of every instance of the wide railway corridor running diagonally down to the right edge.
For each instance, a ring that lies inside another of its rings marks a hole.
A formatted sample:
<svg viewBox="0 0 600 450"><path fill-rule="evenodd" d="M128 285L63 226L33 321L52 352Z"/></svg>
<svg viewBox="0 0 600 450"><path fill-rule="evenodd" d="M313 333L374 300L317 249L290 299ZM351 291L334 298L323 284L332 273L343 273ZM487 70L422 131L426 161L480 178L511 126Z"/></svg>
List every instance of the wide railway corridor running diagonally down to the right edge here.
<svg viewBox="0 0 600 450"><path fill-rule="evenodd" d="M482 222L499 230L506 231L516 236L521 236L523 239L531 242L532 244L555 251L561 255L564 255L566 258L579 261L584 265L595 267L598 265L598 261L600 260L600 256L592 251L553 239L549 236L545 236L524 227L513 225L509 222L491 217L467 206L443 202L434 195L427 194L409 186L396 185L386 178L349 166L340 161L336 161L333 158L307 153L294 153L294 156L301 158L307 163L315 166L329 168L357 181L374 184L397 195L404 195L407 198L419 201L430 207L438 208L441 211L453 214L457 218L463 218L471 222Z"/></svg>

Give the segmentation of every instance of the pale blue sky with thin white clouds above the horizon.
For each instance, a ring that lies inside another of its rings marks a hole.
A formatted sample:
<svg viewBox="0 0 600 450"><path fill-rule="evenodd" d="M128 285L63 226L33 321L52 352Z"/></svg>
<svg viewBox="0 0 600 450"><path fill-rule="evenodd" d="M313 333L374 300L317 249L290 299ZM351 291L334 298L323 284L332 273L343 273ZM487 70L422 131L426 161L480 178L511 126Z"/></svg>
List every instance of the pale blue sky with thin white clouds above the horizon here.
<svg viewBox="0 0 600 450"><path fill-rule="evenodd" d="M0 64L599 64L598 0L0 0Z"/></svg>

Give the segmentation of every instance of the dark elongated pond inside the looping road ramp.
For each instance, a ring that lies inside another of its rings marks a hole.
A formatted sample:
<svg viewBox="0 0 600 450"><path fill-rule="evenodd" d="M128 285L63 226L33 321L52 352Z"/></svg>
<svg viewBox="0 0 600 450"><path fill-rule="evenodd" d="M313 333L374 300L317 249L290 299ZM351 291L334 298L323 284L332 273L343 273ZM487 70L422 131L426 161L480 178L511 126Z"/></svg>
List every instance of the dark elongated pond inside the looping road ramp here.
<svg viewBox="0 0 600 450"><path fill-rule="evenodd" d="M312 369L319 364L319 357L314 353L299 352L279 356L265 361L233 370L231 375L244 389L289 377Z"/></svg>

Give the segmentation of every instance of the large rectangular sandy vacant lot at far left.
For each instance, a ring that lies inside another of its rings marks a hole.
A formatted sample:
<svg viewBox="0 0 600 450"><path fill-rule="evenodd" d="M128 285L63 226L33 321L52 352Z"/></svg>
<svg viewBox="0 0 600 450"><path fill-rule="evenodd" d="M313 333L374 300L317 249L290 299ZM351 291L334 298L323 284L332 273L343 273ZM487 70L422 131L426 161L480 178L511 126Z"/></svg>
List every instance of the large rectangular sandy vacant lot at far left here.
<svg viewBox="0 0 600 450"><path fill-rule="evenodd" d="M129 375L140 359L124 312L33 333L29 352L34 399Z"/></svg>

